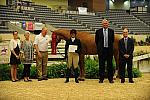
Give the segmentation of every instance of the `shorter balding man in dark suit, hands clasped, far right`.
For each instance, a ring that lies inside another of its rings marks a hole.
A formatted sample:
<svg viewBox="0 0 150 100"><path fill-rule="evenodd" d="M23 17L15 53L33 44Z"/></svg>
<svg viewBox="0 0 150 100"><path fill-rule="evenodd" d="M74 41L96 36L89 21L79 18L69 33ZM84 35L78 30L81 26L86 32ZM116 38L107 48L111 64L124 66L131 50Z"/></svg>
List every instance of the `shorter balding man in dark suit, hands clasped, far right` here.
<svg viewBox="0 0 150 100"><path fill-rule="evenodd" d="M125 82L125 66L127 64L127 71L129 77L129 83L134 83L132 76L132 60L134 51L134 42L128 37L128 29L123 30L123 38L119 40L119 69L121 83Z"/></svg>

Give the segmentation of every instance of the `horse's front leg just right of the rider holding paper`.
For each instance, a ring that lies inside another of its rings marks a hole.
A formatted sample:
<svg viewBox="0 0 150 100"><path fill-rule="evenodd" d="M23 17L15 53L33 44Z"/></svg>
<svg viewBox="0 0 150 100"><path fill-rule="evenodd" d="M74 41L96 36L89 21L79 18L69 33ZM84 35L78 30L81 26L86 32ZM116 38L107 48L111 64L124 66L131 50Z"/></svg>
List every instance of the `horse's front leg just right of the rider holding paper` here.
<svg viewBox="0 0 150 100"><path fill-rule="evenodd" d="M85 70L84 70L84 55L83 54L79 55L79 67L80 67L80 76L79 76L78 79L80 81L84 81L84 79L85 79L85 77L84 77Z"/></svg>

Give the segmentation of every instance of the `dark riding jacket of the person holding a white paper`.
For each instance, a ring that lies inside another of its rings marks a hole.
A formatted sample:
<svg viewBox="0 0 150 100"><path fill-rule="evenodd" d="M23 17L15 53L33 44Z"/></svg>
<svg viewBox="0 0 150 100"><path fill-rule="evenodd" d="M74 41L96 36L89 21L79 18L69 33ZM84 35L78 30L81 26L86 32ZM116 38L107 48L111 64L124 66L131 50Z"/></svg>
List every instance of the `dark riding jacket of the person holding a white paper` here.
<svg viewBox="0 0 150 100"><path fill-rule="evenodd" d="M67 52L69 45L77 45L77 50L75 51L76 53L80 54L81 52L81 42L79 39L75 38L74 42L72 42L71 38L66 40L66 45L65 45L65 57L67 57Z"/></svg>

